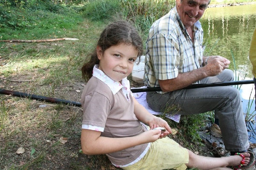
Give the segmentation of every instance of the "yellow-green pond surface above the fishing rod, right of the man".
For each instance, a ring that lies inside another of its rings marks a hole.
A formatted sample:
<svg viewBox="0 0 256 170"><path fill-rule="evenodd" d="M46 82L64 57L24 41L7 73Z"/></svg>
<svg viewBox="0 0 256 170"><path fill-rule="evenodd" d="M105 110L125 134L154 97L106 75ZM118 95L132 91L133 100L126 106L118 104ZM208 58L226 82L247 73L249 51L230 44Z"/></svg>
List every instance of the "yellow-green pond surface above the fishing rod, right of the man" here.
<svg viewBox="0 0 256 170"><path fill-rule="evenodd" d="M256 4L243 6L226 6L207 8L201 23L204 35L209 37L209 46L217 45L211 54L221 55L230 59L230 68L234 70L233 51L236 70L252 78L251 65L248 59L250 40L256 27Z"/></svg>

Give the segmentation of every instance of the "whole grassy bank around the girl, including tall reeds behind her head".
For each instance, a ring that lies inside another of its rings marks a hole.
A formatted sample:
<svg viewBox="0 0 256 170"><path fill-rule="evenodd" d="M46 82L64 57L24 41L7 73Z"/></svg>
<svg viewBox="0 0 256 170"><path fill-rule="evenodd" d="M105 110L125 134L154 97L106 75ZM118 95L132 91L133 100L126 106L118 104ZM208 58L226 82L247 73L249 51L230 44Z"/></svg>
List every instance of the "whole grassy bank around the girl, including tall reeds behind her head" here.
<svg viewBox="0 0 256 170"><path fill-rule="evenodd" d="M95 0L85 3L84 7L73 5L70 8L39 4L36 10L27 11L0 6L12 21L0 23L0 40L79 39L0 42L0 88L79 102L86 84L81 78L81 66L102 29L111 20L111 17L107 20L105 17L115 15L113 20L130 18L140 28L145 42L151 23L173 6L173 1L165 0L157 4L158 1L154 0L117 2L121 1ZM126 8L120 11L120 6ZM143 6L147 6L147 10ZM99 10L97 13L93 13L95 8ZM55 12L50 9L55 9ZM112 13L109 13L110 9ZM147 15L145 11L148 11ZM136 86L142 85L131 81L131 87ZM0 95L0 169L119 169L113 167L105 155L81 153L81 119L79 107ZM178 130L177 135L170 137L205 155L207 153L202 150L205 144L201 142L198 130L205 126L207 119L205 114L181 116L180 123L166 119ZM62 139L67 139L67 142ZM16 153L20 147L24 149L23 153Z"/></svg>

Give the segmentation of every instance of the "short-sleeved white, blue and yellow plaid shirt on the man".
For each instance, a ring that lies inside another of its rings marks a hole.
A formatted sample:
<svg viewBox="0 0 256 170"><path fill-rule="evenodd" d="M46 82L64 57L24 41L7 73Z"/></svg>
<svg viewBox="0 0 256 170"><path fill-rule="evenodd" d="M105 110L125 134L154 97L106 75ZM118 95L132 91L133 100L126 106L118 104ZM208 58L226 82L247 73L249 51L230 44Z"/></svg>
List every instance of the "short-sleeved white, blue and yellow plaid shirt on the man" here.
<svg viewBox="0 0 256 170"><path fill-rule="evenodd" d="M202 66L203 29L199 21L194 24L193 31L194 43L180 20L176 6L153 23L146 43L144 83L147 87L159 87L157 79L173 79L179 73Z"/></svg>

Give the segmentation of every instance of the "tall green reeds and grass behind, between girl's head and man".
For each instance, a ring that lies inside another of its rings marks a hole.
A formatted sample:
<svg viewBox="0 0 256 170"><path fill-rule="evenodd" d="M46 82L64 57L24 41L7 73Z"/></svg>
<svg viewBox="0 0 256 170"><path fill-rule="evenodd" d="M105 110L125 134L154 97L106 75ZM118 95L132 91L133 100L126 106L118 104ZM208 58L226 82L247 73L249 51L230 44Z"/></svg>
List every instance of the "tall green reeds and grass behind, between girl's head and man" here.
<svg viewBox="0 0 256 170"><path fill-rule="evenodd" d="M174 6L175 0L93 0L78 11L91 20L131 20L145 42L153 22Z"/></svg>

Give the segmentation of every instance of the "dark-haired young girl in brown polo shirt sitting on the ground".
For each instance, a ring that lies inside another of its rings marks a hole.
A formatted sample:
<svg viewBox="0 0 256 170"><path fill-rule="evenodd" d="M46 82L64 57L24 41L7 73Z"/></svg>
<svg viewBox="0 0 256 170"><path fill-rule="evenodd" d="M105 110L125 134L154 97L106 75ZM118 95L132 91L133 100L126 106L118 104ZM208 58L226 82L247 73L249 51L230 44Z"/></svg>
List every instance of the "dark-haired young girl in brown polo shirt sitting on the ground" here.
<svg viewBox="0 0 256 170"><path fill-rule="evenodd" d="M83 78L89 79L81 99L83 153L106 154L113 165L124 170L247 166L250 153L198 156L166 137L172 133L168 123L149 113L130 91L127 76L142 53L142 40L131 23L111 23L100 35L90 61L82 67ZM166 131L153 130L155 127Z"/></svg>

